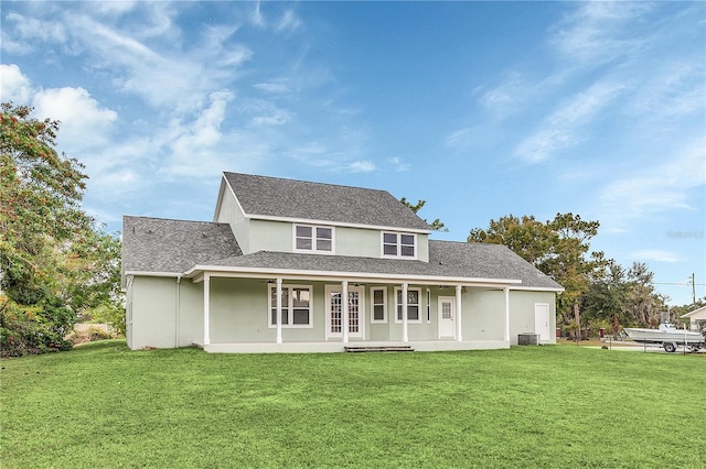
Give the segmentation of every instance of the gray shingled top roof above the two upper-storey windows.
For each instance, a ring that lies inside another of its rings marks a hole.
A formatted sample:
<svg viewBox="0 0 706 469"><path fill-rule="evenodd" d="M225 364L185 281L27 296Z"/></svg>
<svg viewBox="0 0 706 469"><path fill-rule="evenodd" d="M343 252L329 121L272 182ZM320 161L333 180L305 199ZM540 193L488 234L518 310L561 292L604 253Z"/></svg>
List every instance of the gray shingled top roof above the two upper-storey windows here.
<svg viewBox="0 0 706 469"><path fill-rule="evenodd" d="M249 216L428 230L429 226L386 190L224 173Z"/></svg>

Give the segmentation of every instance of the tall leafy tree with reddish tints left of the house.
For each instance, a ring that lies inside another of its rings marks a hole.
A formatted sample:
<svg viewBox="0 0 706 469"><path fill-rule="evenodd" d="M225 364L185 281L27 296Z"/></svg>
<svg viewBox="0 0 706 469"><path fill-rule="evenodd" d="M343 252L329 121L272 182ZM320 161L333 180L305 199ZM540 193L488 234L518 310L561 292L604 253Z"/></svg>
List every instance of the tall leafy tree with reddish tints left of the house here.
<svg viewBox="0 0 706 469"><path fill-rule="evenodd" d="M119 241L81 208L87 176L83 164L54 150L60 122L34 119L32 108L11 102L1 110L2 346L25 337L28 350L43 351L34 346L61 342L82 310L119 302Z"/></svg>

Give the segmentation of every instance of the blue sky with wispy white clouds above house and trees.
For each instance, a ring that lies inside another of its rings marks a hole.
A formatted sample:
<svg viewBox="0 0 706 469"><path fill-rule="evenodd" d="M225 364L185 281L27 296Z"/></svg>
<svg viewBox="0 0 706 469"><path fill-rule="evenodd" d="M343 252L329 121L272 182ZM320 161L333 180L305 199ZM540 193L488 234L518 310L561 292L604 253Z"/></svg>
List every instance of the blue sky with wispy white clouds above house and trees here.
<svg viewBox="0 0 706 469"><path fill-rule="evenodd" d="M84 207L210 220L222 171L425 199L463 241L599 220L706 295L704 2L2 1L2 101L62 121Z"/></svg>

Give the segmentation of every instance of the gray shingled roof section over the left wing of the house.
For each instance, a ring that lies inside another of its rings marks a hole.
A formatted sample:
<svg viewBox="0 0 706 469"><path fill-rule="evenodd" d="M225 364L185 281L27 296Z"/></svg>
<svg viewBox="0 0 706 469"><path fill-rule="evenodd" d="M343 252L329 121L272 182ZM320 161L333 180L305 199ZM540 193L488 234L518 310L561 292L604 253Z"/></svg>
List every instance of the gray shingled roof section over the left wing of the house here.
<svg viewBox="0 0 706 469"><path fill-rule="evenodd" d="M242 254L227 223L122 217L122 272L183 273Z"/></svg>

